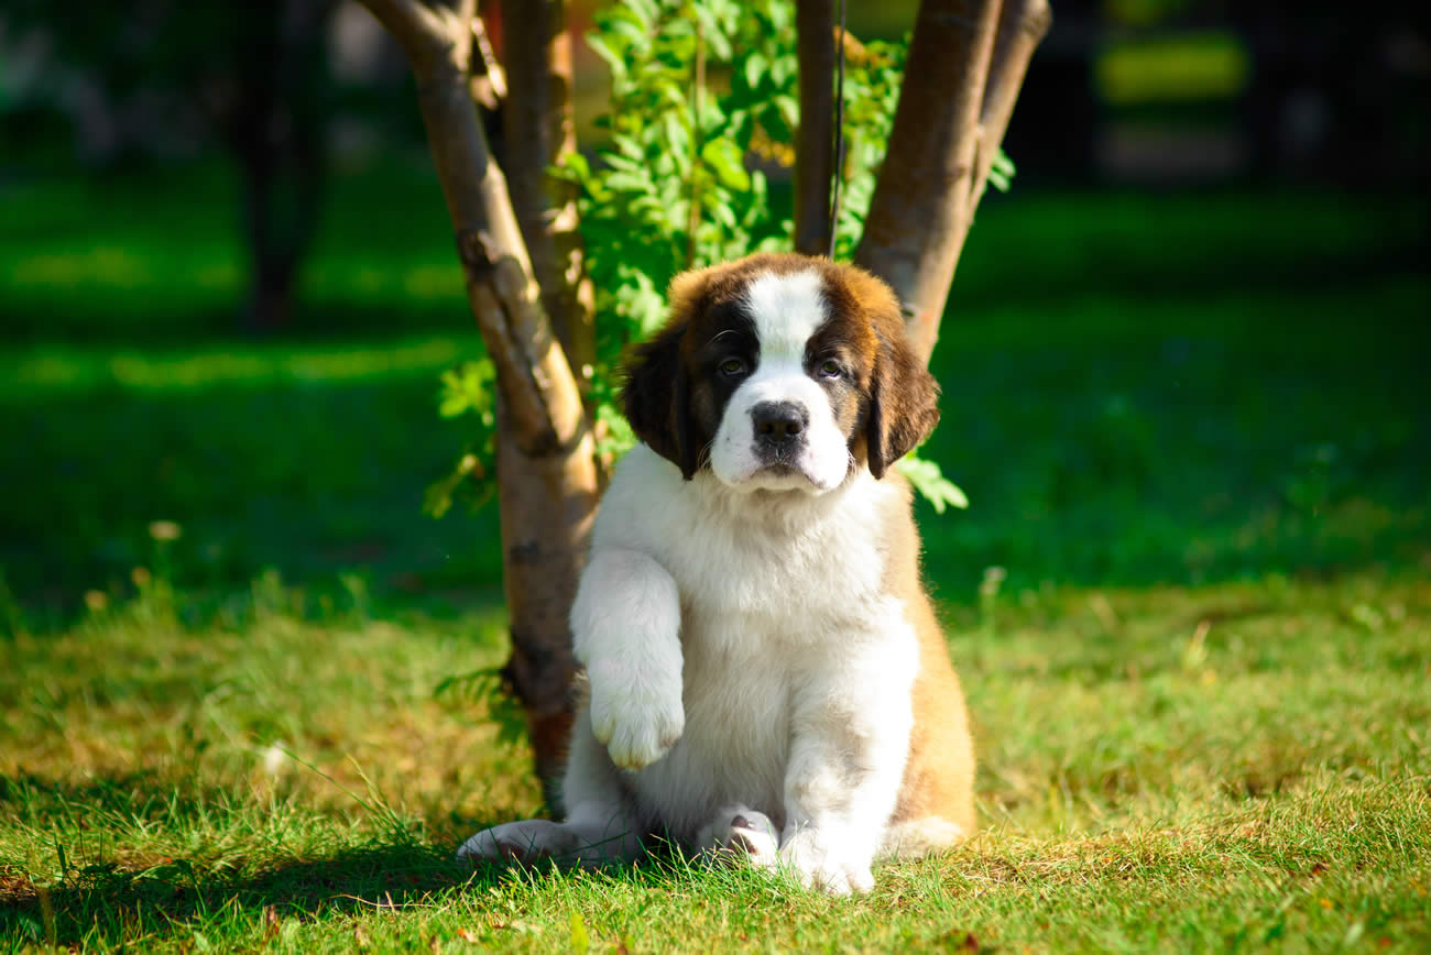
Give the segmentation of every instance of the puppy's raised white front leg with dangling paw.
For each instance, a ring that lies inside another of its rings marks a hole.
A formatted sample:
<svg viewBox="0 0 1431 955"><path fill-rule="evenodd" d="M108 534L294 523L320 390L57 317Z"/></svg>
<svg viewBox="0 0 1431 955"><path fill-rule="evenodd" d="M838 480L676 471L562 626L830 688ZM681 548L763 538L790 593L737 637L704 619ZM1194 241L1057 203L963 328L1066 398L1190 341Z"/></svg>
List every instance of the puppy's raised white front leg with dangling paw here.
<svg viewBox="0 0 1431 955"><path fill-rule="evenodd" d="M571 608L572 642L591 682L591 731L624 769L651 765L685 729L680 630L665 568L640 550L591 552Z"/></svg>

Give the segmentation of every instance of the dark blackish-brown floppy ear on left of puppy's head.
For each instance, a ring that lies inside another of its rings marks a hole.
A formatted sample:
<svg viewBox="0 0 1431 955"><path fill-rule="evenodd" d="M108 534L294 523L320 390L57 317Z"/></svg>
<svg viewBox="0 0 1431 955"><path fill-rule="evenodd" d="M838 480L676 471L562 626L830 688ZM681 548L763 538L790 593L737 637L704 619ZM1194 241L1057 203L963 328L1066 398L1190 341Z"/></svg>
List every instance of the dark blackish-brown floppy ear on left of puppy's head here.
<svg viewBox="0 0 1431 955"><path fill-rule="evenodd" d="M690 375L681 360L685 322L668 326L638 345L627 362L621 405L631 430L690 480L700 469L700 447L691 435Z"/></svg>

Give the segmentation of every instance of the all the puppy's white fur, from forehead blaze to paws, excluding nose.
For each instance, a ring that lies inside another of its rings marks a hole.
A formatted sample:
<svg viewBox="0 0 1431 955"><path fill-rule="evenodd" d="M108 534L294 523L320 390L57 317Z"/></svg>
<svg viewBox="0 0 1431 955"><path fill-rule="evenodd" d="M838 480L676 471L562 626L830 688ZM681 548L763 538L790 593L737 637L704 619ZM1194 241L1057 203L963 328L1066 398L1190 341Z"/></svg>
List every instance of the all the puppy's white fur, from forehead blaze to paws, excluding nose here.
<svg viewBox="0 0 1431 955"><path fill-rule="evenodd" d="M876 853L900 842L889 821L919 666L904 606L883 590L900 492L850 470L806 373L819 276L761 277L748 305L760 366L727 405L711 469L683 480L638 445L597 516L571 615L591 705L567 821L497 826L459 855L633 858L657 835L843 895L867 891ZM810 410L796 483L750 463L750 406L777 399Z"/></svg>

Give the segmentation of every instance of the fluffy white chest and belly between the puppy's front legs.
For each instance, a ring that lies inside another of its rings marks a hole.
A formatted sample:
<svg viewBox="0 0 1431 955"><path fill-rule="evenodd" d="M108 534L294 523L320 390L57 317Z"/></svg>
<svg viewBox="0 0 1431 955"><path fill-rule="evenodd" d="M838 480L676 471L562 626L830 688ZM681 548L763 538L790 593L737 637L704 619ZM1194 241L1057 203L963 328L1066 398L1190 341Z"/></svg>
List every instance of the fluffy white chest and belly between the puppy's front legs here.
<svg viewBox="0 0 1431 955"><path fill-rule="evenodd" d="M851 636L877 639L880 536L837 520L787 533L695 516L660 556L681 595L685 731L637 789L691 838L723 806L784 823L791 699L826 679Z"/></svg>

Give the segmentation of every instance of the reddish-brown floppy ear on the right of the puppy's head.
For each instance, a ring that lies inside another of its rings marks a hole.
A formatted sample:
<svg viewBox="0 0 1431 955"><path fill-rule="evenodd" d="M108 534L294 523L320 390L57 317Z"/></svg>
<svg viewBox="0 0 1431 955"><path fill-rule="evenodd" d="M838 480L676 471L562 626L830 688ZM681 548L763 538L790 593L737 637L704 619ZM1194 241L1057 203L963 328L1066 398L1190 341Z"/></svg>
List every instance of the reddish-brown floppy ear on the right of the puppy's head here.
<svg viewBox="0 0 1431 955"><path fill-rule="evenodd" d="M889 327L877 327L876 337L864 439L870 473L883 478L939 423L939 383L909 347L903 327L893 335Z"/></svg>

